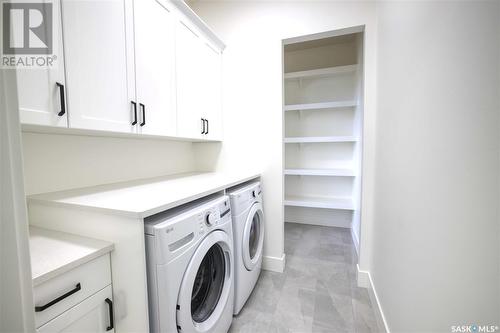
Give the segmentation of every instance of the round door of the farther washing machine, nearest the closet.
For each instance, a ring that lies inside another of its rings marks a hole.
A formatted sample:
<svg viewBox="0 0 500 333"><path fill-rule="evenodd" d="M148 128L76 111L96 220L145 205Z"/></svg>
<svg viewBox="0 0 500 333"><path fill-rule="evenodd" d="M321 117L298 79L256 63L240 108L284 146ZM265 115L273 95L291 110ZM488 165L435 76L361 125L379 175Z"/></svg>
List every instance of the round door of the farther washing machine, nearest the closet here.
<svg viewBox="0 0 500 333"><path fill-rule="evenodd" d="M243 263L246 269L251 271L261 259L264 245L264 212L260 202L254 203L250 208L241 244Z"/></svg>

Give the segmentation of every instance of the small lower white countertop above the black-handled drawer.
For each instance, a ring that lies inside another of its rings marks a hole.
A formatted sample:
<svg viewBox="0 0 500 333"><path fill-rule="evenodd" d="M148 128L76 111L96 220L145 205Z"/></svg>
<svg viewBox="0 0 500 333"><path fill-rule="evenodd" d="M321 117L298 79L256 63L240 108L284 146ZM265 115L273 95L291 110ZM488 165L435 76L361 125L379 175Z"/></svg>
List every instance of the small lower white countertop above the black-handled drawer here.
<svg viewBox="0 0 500 333"><path fill-rule="evenodd" d="M113 243L30 226L33 285L39 285L113 249Z"/></svg>

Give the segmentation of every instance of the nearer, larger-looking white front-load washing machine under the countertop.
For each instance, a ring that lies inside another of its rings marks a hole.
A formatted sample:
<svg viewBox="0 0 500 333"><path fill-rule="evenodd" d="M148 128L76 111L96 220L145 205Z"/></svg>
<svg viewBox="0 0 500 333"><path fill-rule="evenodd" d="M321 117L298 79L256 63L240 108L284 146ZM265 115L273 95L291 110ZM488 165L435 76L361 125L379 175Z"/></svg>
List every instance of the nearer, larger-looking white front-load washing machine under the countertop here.
<svg viewBox="0 0 500 333"><path fill-rule="evenodd" d="M227 332L233 318L229 197L145 220L151 332Z"/></svg>

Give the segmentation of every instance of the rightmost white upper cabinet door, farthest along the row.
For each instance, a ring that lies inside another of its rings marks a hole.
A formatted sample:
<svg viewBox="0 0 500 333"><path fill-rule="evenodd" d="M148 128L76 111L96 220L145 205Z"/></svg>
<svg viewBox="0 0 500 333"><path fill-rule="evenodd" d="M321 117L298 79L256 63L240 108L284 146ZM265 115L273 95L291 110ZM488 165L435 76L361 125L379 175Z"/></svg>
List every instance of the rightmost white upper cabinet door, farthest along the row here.
<svg viewBox="0 0 500 333"><path fill-rule="evenodd" d="M221 53L208 43L203 44L201 53L202 69L201 89L203 95L203 118L208 120L208 133L211 140L222 140L222 68Z"/></svg>

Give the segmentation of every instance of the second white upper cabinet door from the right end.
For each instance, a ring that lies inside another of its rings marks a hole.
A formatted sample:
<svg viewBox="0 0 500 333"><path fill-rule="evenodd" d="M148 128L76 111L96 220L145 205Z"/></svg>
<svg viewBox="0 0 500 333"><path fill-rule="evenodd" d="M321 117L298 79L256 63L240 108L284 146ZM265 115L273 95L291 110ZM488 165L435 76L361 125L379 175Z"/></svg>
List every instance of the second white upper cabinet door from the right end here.
<svg viewBox="0 0 500 333"><path fill-rule="evenodd" d="M177 135L187 138L201 138L201 41L197 33L186 22L177 21L175 32Z"/></svg>

